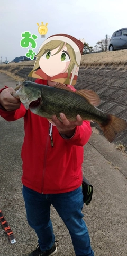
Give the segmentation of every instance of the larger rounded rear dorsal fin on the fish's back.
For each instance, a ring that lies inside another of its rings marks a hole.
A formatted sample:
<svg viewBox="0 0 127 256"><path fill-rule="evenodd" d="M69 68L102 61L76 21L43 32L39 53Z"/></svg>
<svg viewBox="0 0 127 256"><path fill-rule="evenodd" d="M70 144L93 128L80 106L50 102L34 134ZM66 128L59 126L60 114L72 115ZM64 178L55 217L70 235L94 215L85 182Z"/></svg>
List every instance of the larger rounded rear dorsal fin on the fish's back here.
<svg viewBox="0 0 127 256"><path fill-rule="evenodd" d="M84 97L90 105L98 106L100 104L100 98L93 90L76 90L75 93Z"/></svg>

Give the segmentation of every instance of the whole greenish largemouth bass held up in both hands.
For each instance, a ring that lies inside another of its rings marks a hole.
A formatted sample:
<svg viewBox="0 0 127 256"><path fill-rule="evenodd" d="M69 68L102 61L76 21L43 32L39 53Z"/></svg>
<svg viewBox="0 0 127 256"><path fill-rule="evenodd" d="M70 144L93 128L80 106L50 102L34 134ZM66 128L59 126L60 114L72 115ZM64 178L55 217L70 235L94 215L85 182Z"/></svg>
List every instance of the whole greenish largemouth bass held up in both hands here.
<svg viewBox="0 0 127 256"><path fill-rule="evenodd" d="M79 114L83 120L97 122L109 142L127 128L125 120L96 108L99 96L90 90L72 91L66 85L50 87L25 81L16 86L12 95L20 98L26 109L47 119L56 115L61 121L59 114L64 113L69 121L76 121Z"/></svg>

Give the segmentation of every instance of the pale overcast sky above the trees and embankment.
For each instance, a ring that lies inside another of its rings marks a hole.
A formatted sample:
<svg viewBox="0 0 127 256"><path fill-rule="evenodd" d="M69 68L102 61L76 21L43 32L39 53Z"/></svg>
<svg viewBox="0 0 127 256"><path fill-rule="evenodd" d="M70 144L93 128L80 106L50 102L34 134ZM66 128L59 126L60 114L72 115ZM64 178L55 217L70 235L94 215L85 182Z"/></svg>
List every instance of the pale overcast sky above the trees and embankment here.
<svg viewBox="0 0 127 256"><path fill-rule="evenodd" d="M12 61L31 49L22 48L21 34L29 31L38 36L35 53L47 37L65 33L84 38L89 46L127 27L125 0L0 0L0 55ZM48 32L41 38L38 25L48 23ZM0 60L1 61L1 60Z"/></svg>

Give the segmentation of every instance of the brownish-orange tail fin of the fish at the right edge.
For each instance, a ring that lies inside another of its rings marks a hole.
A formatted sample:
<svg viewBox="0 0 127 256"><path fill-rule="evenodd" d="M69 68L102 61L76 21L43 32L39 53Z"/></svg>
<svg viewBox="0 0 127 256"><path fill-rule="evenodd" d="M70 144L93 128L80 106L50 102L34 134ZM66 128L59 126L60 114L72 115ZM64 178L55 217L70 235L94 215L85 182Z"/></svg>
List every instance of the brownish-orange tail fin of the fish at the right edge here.
<svg viewBox="0 0 127 256"><path fill-rule="evenodd" d="M100 125L100 127L108 141L112 142L117 133L120 133L127 128L127 122L124 119L115 117L115 115L112 114L108 114L108 117L108 123L104 123Z"/></svg>

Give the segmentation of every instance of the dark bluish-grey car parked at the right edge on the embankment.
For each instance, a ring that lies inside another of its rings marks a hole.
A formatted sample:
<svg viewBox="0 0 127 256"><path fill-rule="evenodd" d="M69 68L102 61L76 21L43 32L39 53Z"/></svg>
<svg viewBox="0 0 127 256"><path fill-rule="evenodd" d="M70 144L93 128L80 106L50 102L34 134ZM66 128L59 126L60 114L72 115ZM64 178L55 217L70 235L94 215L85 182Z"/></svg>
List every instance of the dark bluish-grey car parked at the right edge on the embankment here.
<svg viewBox="0 0 127 256"><path fill-rule="evenodd" d="M127 28L121 28L112 34L109 51L127 49Z"/></svg>

